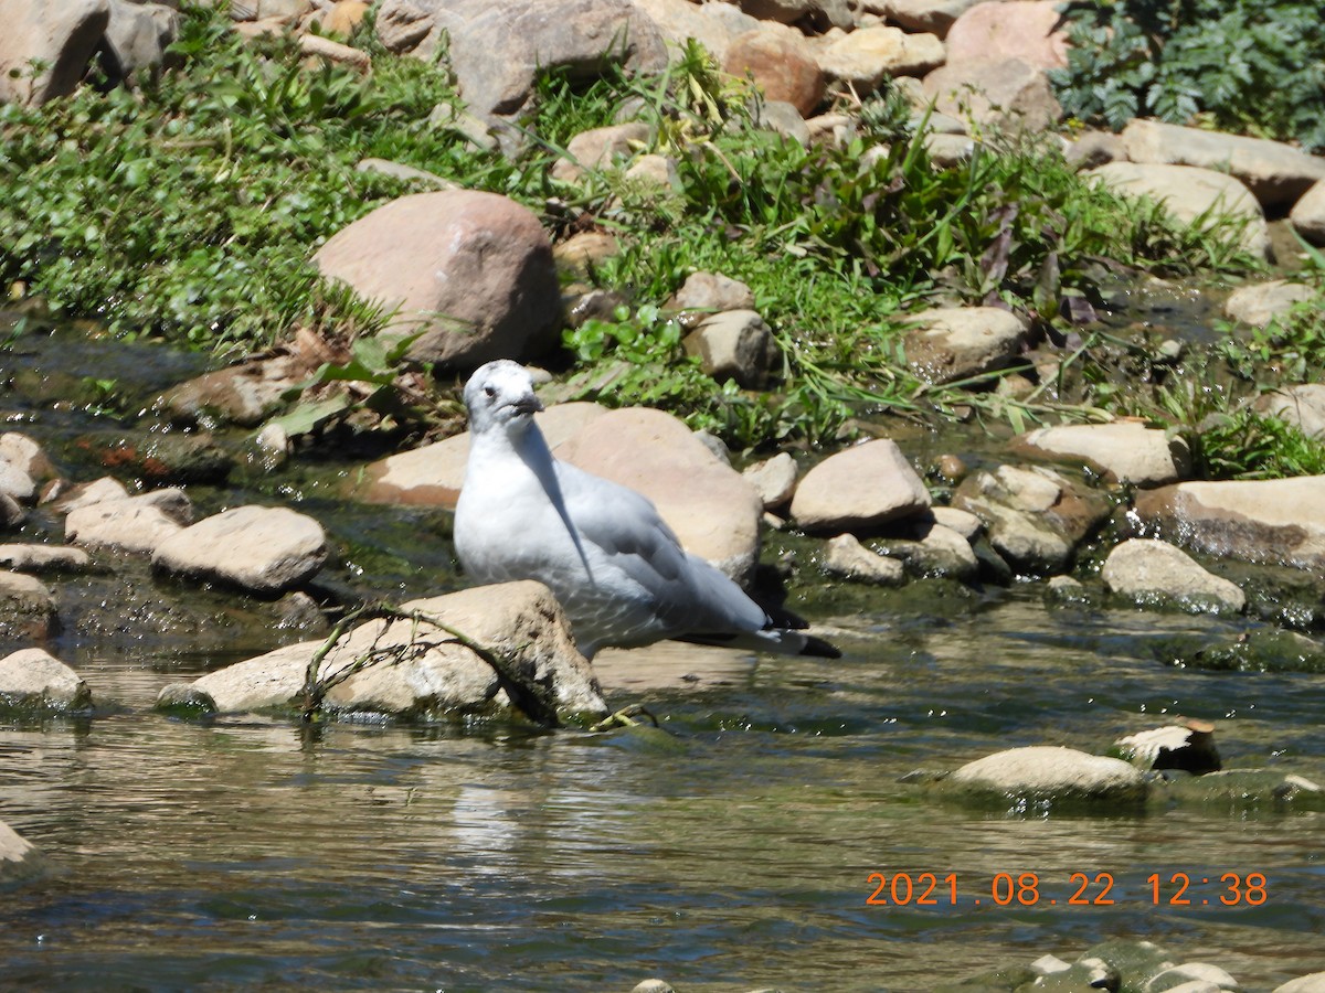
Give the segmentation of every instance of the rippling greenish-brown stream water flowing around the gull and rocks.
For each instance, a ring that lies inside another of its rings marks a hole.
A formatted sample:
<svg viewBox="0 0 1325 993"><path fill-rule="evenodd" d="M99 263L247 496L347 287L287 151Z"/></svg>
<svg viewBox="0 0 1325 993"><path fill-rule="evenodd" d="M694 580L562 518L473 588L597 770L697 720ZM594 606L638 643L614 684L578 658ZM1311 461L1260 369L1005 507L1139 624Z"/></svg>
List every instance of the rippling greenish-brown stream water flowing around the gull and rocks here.
<svg viewBox="0 0 1325 993"><path fill-rule="evenodd" d="M0 364L53 361L44 340L24 347ZM178 377L123 355L68 365ZM30 392L0 408L76 478L93 473L78 440L115 430ZM329 528L338 575L400 596L460 581L444 515L344 504L297 474L196 499L273 493ZM7 538L48 539L40 514ZM1031 584L815 589L792 605L833 630L840 661L604 657L611 702L645 703L661 730L200 724L155 714L158 690L302 636L266 605L98 561L48 580L62 621L48 647L97 714L0 718L0 820L56 866L0 899L7 989L926 990L1114 937L1248 990L1325 969L1325 813L980 812L898 781L1023 744L1102 752L1178 714L1215 722L1226 767L1325 781L1325 677L1167 661L1169 638L1249 620L1047 609ZM874 873L917 888L871 906ZM1170 902L1177 873L1189 904Z"/></svg>

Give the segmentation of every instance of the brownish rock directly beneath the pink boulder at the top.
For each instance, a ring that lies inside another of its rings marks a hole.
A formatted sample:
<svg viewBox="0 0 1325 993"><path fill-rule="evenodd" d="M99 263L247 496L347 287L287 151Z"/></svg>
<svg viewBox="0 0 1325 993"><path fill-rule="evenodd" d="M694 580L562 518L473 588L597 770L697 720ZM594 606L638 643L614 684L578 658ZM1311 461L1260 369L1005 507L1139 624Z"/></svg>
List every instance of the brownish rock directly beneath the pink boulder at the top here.
<svg viewBox="0 0 1325 993"><path fill-rule="evenodd" d="M949 61L925 75L925 94L943 114L1014 132L1039 134L1063 117L1048 78L1020 58Z"/></svg>

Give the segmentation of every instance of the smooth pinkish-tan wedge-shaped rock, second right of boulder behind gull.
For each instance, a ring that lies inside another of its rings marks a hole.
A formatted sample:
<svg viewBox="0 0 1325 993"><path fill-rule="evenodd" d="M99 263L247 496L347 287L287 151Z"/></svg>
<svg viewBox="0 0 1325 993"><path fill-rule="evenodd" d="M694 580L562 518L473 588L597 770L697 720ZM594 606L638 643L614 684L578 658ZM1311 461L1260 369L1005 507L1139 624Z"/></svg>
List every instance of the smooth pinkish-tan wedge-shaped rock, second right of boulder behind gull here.
<svg viewBox="0 0 1325 993"><path fill-rule="evenodd" d="M869 531L920 514L929 490L897 444L885 438L845 449L816 465L791 499L791 515L806 531Z"/></svg>

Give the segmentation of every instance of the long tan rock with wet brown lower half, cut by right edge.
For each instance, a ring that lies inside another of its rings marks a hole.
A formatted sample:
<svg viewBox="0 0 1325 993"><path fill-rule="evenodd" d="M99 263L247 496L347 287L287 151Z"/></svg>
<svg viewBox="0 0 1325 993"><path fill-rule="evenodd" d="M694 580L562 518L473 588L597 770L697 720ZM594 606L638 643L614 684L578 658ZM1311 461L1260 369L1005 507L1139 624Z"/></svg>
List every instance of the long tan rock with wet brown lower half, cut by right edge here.
<svg viewBox="0 0 1325 993"><path fill-rule="evenodd" d="M1325 568L1325 477L1186 482L1137 494L1145 534L1243 561Z"/></svg>

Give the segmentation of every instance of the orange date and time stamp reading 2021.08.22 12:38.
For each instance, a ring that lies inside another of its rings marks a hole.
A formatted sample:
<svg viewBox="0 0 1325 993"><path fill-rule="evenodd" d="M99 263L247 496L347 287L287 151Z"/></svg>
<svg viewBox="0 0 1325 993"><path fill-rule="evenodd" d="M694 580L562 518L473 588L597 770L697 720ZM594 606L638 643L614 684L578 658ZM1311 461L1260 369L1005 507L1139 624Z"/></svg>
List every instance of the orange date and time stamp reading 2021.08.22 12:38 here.
<svg viewBox="0 0 1325 993"><path fill-rule="evenodd" d="M1167 907L1259 907L1269 899L1264 873L1151 873L1140 892L1128 894L1112 873L1069 873L1065 882L1039 873L995 873L958 886L957 873L871 873L865 903L871 907L1110 907L1149 900ZM959 892L961 891L961 892Z"/></svg>

